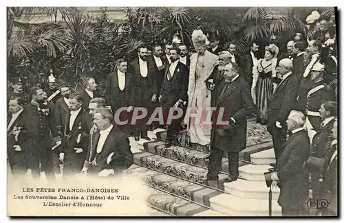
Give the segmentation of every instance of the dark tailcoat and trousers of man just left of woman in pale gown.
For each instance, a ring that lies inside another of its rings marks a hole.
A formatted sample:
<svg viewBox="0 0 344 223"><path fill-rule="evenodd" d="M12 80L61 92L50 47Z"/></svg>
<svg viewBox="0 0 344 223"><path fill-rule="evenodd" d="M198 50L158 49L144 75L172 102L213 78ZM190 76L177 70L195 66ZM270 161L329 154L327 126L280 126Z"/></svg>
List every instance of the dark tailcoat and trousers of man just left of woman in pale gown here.
<svg viewBox="0 0 344 223"><path fill-rule="evenodd" d="M169 79L168 77L171 76L170 66L171 64L166 67L164 81L160 90L164 124L166 124L169 110L178 102L178 99L182 99L184 102L188 101L189 69L182 62L178 61L172 78ZM166 141L172 141L173 135L177 134L181 118L171 121L171 125L169 125L167 130Z"/></svg>

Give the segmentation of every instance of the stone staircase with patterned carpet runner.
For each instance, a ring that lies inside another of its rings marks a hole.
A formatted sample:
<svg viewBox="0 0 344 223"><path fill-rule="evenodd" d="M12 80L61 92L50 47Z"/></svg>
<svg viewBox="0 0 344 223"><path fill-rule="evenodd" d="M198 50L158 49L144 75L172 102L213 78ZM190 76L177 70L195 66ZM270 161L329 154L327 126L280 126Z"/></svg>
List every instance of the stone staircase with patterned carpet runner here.
<svg viewBox="0 0 344 223"><path fill-rule="evenodd" d="M182 139L184 132L180 133ZM149 132L151 141L130 138L134 164L128 176L139 178L151 191L150 207L172 216L268 216L264 172L275 162L266 126L248 120L247 148L239 153L239 178L224 183L228 159L222 159L219 181L206 180L208 152L180 145L165 148L166 130ZM279 190L272 192L272 216L281 215Z"/></svg>

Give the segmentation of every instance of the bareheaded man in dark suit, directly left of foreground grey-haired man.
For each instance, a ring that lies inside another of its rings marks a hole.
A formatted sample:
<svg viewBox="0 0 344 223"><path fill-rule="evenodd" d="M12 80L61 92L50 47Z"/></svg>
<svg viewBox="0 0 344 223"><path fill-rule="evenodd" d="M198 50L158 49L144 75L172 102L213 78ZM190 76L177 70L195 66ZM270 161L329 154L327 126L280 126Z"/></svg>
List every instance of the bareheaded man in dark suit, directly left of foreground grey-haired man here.
<svg viewBox="0 0 344 223"><path fill-rule="evenodd" d="M65 156L63 178L80 173L87 155L89 130L87 112L82 108L83 98L80 95L70 97L70 113L64 125Z"/></svg>

